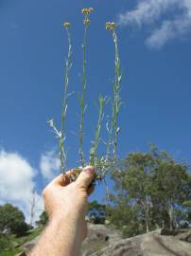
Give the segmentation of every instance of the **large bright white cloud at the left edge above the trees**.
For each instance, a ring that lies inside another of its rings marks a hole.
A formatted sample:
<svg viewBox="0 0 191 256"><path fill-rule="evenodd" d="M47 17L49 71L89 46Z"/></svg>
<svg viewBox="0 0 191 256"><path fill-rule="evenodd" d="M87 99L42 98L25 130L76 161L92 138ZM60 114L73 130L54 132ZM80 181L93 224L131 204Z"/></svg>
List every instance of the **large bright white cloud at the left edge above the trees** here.
<svg viewBox="0 0 191 256"><path fill-rule="evenodd" d="M35 184L33 178L36 171L30 166L24 157L17 153L0 151L0 203L11 203L21 209L26 215L26 221L30 221L31 201ZM34 220L43 210L43 200L36 196L36 211Z"/></svg>

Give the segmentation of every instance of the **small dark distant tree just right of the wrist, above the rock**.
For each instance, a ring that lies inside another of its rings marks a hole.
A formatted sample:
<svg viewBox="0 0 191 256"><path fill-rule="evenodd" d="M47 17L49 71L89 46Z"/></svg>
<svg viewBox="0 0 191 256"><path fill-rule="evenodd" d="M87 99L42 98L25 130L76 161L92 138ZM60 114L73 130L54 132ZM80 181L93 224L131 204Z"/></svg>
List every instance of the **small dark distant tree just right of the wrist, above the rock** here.
<svg viewBox="0 0 191 256"><path fill-rule="evenodd" d="M106 206L99 204L96 200L89 203L87 216L94 224L104 224L106 217Z"/></svg>

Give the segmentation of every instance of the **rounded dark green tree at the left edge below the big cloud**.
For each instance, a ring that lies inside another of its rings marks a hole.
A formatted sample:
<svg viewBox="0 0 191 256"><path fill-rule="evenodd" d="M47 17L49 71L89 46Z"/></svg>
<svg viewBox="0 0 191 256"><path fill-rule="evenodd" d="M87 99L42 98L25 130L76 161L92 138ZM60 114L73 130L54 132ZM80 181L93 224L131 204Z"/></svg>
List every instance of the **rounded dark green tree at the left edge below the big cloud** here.
<svg viewBox="0 0 191 256"><path fill-rule="evenodd" d="M24 213L10 204L0 206L0 232L24 235L28 229Z"/></svg>

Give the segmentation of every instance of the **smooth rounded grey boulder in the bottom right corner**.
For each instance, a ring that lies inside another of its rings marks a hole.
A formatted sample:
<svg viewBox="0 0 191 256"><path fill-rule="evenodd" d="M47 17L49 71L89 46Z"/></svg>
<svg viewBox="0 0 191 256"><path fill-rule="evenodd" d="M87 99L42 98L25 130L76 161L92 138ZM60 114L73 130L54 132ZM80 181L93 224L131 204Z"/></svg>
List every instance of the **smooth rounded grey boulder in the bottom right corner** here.
<svg viewBox="0 0 191 256"><path fill-rule="evenodd" d="M191 245L174 236L158 232L123 239L93 254L94 256L190 256Z"/></svg>

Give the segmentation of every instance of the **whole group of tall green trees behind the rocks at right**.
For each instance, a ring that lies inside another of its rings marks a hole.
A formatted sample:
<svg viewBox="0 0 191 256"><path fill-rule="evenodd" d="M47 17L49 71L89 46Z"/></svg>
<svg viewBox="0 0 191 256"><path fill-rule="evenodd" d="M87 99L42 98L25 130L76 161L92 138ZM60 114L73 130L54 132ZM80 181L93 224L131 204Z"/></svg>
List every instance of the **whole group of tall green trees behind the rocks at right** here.
<svg viewBox="0 0 191 256"><path fill-rule="evenodd" d="M175 229L189 220L191 175L186 164L151 147L148 154L131 153L113 172L113 207L108 218L126 236L157 228Z"/></svg>

